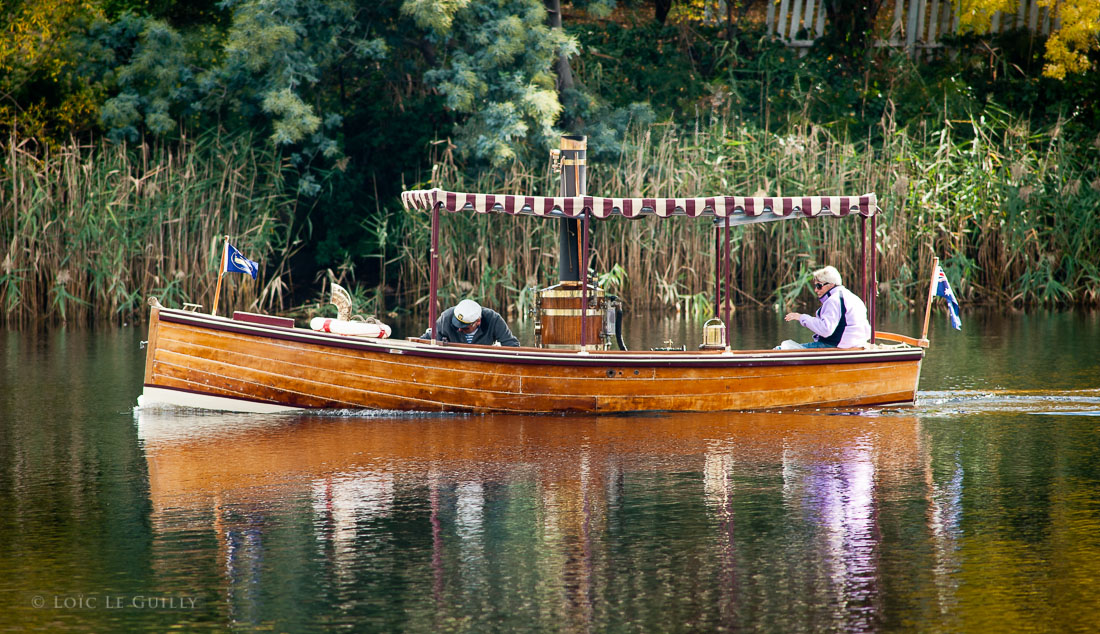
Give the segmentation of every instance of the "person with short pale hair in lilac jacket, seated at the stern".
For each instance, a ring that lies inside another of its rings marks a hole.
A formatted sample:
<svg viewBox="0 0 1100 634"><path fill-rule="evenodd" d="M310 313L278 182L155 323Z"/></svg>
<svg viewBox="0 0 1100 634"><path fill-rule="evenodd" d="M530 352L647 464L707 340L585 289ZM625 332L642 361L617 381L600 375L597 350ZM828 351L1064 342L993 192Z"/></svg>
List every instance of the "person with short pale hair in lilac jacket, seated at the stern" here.
<svg viewBox="0 0 1100 634"><path fill-rule="evenodd" d="M788 321L798 321L814 334L814 340L801 348L862 348L871 338L867 306L858 295L845 288L840 273L833 266L814 271L814 294L822 303L816 315L788 313ZM784 341L785 343L785 341ZM783 346L782 348L787 348Z"/></svg>

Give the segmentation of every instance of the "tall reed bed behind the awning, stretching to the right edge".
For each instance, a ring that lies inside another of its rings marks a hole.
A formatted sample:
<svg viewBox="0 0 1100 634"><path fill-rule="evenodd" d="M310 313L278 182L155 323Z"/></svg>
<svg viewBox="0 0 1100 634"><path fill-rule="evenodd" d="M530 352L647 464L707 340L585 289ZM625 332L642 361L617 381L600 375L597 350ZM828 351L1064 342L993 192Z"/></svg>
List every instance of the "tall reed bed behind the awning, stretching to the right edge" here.
<svg viewBox="0 0 1100 634"><path fill-rule="evenodd" d="M588 193L602 196L840 195L876 192L880 302L923 306L933 255L968 302L1100 302L1098 146L1070 146L1060 128L990 114L898 130L889 120L853 140L806 124L774 134L728 121L684 132L637 130L614 164L590 162ZM464 178L442 163L432 186L556 194L543 166ZM400 281L407 302L427 289L426 214L407 222ZM834 264L858 287L857 218L772 222L735 229L737 304L787 304L813 269ZM869 226L869 225L868 225ZM474 296L509 310L557 281L557 223L537 218L444 215L444 302ZM636 308L708 311L714 294L710 221L594 221L592 269Z"/></svg>

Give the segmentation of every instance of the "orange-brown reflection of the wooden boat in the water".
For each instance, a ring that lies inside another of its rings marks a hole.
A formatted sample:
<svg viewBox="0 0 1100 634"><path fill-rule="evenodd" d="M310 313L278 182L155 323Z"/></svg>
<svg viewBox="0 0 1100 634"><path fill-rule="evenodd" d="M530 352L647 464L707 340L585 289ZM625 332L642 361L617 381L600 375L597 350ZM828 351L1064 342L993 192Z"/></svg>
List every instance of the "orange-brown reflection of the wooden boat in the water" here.
<svg viewBox="0 0 1100 634"><path fill-rule="evenodd" d="M136 417L163 573L212 531L234 622L288 588L405 630L871 630L908 567L953 597L960 479L912 416Z"/></svg>

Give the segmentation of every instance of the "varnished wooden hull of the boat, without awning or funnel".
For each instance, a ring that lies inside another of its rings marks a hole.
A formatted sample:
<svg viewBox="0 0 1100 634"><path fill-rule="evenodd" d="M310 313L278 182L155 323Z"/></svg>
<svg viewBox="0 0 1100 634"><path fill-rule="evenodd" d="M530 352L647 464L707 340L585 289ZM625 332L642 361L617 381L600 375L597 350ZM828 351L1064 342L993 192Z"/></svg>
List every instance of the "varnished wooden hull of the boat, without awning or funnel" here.
<svg viewBox="0 0 1100 634"><path fill-rule="evenodd" d="M909 403L924 351L591 352L374 340L153 308L143 407L592 414Z"/></svg>

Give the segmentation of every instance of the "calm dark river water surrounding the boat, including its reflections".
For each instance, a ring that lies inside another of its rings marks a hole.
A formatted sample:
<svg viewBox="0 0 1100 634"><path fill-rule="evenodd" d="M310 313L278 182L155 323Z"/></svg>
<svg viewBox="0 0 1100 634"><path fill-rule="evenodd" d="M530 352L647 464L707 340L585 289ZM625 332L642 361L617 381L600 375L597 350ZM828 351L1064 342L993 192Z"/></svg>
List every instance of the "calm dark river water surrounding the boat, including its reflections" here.
<svg viewBox="0 0 1100 634"><path fill-rule="evenodd" d="M135 412L140 328L0 331L0 630L1094 631L1100 314L964 317L845 415Z"/></svg>

